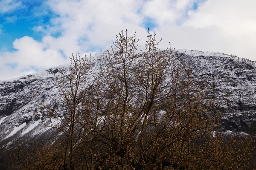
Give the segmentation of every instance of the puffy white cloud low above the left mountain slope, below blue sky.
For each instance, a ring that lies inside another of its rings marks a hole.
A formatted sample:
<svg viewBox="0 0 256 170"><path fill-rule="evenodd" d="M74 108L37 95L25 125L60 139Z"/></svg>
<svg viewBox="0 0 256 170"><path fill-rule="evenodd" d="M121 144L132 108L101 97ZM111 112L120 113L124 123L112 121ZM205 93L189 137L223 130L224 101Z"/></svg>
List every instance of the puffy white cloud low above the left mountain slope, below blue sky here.
<svg viewBox="0 0 256 170"><path fill-rule="evenodd" d="M48 49L43 42L37 42L28 36L16 39L13 47L17 51L0 53L0 79L11 79L68 63L60 52Z"/></svg>

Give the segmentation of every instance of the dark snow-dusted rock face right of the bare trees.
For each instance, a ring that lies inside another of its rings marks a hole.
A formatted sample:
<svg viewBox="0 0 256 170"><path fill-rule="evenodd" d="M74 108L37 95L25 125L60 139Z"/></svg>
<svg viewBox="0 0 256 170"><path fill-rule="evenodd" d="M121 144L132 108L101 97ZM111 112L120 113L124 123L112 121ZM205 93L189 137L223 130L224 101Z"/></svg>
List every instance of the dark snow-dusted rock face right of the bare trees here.
<svg viewBox="0 0 256 170"><path fill-rule="evenodd" d="M200 51L197 51L200 53ZM198 77L208 83L215 82L214 88L223 103L221 129L249 134L256 133L256 69L255 63L229 57L221 53L190 56L187 58ZM219 54L219 55L218 55Z"/></svg>

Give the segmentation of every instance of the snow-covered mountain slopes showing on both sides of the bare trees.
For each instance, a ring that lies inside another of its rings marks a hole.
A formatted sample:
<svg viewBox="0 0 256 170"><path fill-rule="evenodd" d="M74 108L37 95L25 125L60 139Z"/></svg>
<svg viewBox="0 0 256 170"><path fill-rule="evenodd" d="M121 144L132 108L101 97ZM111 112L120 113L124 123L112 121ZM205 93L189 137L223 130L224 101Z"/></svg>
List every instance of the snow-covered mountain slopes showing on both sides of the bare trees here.
<svg viewBox="0 0 256 170"><path fill-rule="evenodd" d="M92 57L99 70L106 51ZM194 73L209 82L215 81L216 96L223 99L221 130L230 133L256 132L255 62L223 53L178 50L178 59L192 64ZM35 74L0 82L0 149L8 149L19 135L32 139L49 131L47 119L38 112L38 101L58 101L61 97L55 76L69 65L50 68ZM18 133L20 132L20 133Z"/></svg>

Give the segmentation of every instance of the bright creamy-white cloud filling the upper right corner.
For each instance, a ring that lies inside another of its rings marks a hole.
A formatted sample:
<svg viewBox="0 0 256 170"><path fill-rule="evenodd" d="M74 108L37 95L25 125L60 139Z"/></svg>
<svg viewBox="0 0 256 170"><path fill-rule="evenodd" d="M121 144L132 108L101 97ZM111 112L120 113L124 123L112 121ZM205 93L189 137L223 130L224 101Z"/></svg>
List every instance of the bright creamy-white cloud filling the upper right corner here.
<svg viewBox="0 0 256 170"><path fill-rule="evenodd" d="M189 12L184 25L195 28L217 26L232 36L256 34L255 0L208 0Z"/></svg>

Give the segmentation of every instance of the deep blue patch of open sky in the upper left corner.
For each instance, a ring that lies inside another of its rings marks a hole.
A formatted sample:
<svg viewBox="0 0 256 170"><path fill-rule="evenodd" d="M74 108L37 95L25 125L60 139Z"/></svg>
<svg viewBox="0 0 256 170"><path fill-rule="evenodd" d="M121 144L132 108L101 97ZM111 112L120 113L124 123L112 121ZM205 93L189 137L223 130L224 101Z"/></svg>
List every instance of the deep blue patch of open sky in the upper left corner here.
<svg viewBox="0 0 256 170"><path fill-rule="evenodd" d="M47 9L44 6L46 0L24 0L17 1L20 5L6 13L1 14L0 24L2 26L2 34L0 34L0 47L8 51L15 51L12 42L15 39L29 36L40 41L43 37L42 33L33 31L33 27L41 24L49 24L51 12L43 11Z"/></svg>

